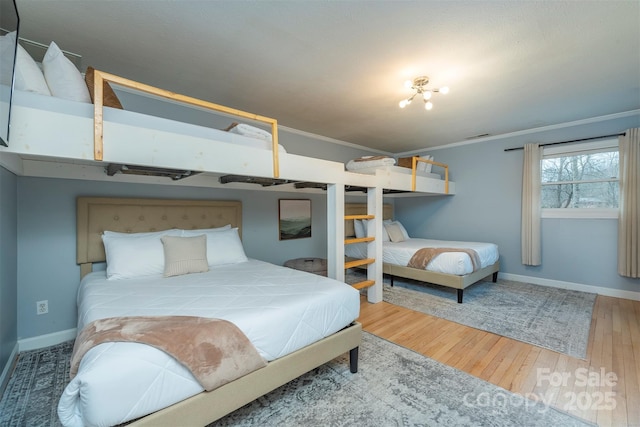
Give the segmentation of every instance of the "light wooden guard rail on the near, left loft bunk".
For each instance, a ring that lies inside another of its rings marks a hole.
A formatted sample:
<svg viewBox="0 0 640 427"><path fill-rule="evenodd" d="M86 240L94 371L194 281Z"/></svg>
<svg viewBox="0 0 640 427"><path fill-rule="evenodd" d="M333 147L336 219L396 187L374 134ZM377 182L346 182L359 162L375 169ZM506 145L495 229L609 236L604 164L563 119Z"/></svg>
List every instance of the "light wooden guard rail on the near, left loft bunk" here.
<svg viewBox="0 0 640 427"><path fill-rule="evenodd" d="M102 161L104 153L104 94L103 85L104 82L114 83L120 86L124 86L130 89L135 89L141 92L149 93L151 95L160 96L163 98L179 101L184 104L195 105L197 107L206 108L212 111L218 111L222 113L231 114L234 116L242 117L245 119L256 120L259 122L267 123L271 125L271 138L272 138L272 155L273 155L273 177L278 178L280 176L280 167L278 160L278 121L269 117L259 116L257 114L247 113L245 111L236 110L235 108L225 107L224 105L214 104L213 102L203 101L197 98L192 98L186 95L180 95L168 90L159 89L157 87L149 86L144 83L139 83L134 80L125 79L115 74L105 73L104 71L95 70L93 80L93 93L94 93L94 136L93 136L93 157L94 160Z"/></svg>

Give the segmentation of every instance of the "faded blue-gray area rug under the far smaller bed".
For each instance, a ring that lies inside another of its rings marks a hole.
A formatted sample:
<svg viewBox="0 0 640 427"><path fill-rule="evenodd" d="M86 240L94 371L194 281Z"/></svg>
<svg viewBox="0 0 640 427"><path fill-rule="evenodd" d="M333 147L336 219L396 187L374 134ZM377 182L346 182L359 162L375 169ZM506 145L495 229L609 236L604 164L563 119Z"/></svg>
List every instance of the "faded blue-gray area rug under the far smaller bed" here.
<svg viewBox="0 0 640 427"><path fill-rule="evenodd" d="M456 290L385 279L384 301L538 347L585 359L596 294L509 280Z"/></svg>

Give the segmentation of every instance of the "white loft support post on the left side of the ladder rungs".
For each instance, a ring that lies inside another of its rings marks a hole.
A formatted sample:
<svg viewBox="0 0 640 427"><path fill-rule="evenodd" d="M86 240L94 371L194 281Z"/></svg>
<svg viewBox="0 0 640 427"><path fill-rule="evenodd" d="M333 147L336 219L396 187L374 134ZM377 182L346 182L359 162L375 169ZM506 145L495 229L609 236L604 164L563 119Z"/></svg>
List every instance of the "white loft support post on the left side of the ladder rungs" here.
<svg viewBox="0 0 640 427"><path fill-rule="evenodd" d="M327 275L344 282L344 184L327 184Z"/></svg>

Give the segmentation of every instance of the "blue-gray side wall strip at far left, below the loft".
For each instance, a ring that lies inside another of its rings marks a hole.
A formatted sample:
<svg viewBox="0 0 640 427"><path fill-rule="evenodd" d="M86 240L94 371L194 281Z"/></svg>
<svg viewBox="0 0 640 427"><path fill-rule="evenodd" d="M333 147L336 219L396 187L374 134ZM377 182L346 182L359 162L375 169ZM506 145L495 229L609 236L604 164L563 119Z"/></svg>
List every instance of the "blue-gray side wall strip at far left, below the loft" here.
<svg viewBox="0 0 640 427"><path fill-rule="evenodd" d="M17 178L0 167L0 373L17 342Z"/></svg>

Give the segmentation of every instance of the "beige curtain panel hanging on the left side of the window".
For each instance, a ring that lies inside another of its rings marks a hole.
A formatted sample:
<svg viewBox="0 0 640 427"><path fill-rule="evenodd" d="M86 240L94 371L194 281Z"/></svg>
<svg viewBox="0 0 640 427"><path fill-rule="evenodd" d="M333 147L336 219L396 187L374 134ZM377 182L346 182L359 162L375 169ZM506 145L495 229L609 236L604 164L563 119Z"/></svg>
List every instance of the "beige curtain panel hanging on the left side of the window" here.
<svg viewBox="0 0 640 427"><path fill-rule="evenodd" d="M540 162L542 147L525 144L522 169L522 263L542 264L542 237L540 232Z"/></svg>

